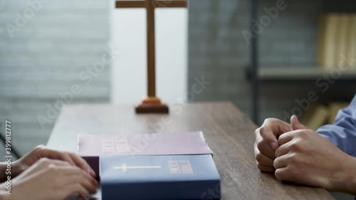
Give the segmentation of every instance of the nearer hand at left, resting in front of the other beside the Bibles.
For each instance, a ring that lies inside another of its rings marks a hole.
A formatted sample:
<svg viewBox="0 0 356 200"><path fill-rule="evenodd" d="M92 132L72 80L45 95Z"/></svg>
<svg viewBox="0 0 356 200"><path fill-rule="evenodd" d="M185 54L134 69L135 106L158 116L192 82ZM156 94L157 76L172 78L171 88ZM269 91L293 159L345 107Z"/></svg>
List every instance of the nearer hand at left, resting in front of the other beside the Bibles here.
<svg viewBox="0 0 356 200"><path fill-rule="evenodd" d="M87 190L96 192L98 182L79 167L56 159L41 158L12 181L10 199L63 200ZM1 186L4 188L4 186Z"/></svg>

